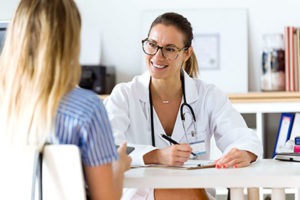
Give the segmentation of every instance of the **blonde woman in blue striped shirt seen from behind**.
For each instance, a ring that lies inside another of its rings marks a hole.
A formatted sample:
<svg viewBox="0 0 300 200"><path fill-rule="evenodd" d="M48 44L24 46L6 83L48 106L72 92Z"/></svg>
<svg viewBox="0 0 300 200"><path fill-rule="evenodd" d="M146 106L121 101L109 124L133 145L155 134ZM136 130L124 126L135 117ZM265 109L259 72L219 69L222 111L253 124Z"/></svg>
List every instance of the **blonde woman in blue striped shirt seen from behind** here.
<svg viewBox="0 0 300 200"><path fill-rule="evenodd" d="M0 57L0 143L80 148L89 199L121 198L131 158L106 110L78 88L81 17L73 0L21 0Z"/></svg>

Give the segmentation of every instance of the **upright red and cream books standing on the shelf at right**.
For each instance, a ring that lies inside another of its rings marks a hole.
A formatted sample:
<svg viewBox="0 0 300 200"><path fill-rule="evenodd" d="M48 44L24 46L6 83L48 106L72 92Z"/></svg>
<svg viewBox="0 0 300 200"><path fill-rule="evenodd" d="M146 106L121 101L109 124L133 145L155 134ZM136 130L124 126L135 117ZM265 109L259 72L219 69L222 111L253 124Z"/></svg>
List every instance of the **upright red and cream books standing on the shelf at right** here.
<svg viewBox="0 0 300 200"><path fill-rule="evenodd" d="M284 28L285 90L300 91L300 28Z"/></svg>

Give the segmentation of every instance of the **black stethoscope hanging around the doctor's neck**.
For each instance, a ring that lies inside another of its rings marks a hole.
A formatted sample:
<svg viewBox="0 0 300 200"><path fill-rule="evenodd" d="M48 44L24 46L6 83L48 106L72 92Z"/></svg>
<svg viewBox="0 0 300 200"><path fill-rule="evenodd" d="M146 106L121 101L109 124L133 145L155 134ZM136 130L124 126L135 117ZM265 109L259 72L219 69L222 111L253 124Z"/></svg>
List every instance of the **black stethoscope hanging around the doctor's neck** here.
<svg viewBox="0 0 300 200"><path fill-rule="evenodd" d="M152 140L152 146L155 147L155 136L154 136L154 121L153 121L153 102L152 102L152 93L151 93L151 80L152 80L152 77L150 77L150 81L149 81L149 102L150 102L150 124L151 124L151 140ZM183 72L181 71L180 73L180 81L181 81L181 85L182 85L182 95L183 95L183 103L181 104L180 106L180 117L181 117L181 121L182 121L182 124L183 124L183 128L185 129L185 126L184 126L184 121L185 121L185 114L184 114L184 108L186 107L191 115L192 115L192 118L193 118L193 124L194 124L194 130L196 130L196 116L195 116L195 113L194 113L194 110L192 108L191 105L189 105L187 102L186 102L186 96L185 96L185 81L184 81L184 74ZM186 130L186 129L185 129ZM186 133L185 133L186 135ZM187 136L186 136L187 137Z"/></svg>

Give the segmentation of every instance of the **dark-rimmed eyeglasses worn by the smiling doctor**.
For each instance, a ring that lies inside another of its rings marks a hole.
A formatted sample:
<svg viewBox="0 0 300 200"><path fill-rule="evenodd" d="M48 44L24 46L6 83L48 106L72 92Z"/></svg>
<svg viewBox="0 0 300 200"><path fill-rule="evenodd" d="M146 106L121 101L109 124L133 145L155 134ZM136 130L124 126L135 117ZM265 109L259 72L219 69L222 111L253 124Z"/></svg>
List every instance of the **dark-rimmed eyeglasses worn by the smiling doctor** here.
<svg viewBox="0 0 300 200"><path fill-rule="evenodd" d="M162 55L168 60L175 60L178 54L182 50L187 50L189 47L178 48L176 46L159 46L156 42L149 40L148 38L142 40L143 51L147 55L154 56L159 49L161 49Z"/></svg>

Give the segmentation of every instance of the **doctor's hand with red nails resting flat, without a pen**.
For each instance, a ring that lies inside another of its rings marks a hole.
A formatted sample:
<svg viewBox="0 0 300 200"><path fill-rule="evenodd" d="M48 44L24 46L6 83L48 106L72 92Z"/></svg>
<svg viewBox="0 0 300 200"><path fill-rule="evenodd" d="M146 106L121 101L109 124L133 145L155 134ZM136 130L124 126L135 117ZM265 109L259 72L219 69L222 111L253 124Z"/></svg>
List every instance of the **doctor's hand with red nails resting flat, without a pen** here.
<svg viewBox="0 0 300 200"><path fill-rule="evenodd" d="M256 158L257 156L249 151L233 148L216 161L216 168L247 167Z"/></svg>

